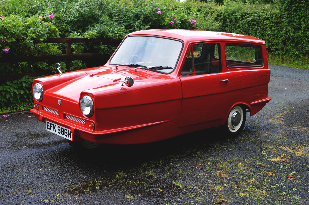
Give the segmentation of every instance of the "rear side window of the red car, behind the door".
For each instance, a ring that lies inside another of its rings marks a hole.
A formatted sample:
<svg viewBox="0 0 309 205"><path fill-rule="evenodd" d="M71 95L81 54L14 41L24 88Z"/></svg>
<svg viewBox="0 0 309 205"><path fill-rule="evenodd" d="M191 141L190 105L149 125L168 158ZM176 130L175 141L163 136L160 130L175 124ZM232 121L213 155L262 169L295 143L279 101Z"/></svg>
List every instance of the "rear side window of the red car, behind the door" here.
<svg viewBox="0 0 309 205"><path fill-rule="evenodd" d="M225 59L228 68L262 66L262 50L259 46L226 45Z"/></svg>

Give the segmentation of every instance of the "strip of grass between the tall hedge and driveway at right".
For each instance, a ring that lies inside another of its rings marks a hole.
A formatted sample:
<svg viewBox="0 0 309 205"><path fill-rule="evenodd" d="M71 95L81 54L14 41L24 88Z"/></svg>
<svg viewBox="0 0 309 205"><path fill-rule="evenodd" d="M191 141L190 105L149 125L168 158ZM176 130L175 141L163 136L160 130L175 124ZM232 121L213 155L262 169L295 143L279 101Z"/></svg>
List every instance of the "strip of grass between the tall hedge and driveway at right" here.
<svg viewBox="0 0 309 205"><path fill-rule="evenodd" d="M308 57L288 57L283 55L275 55L275 54L268 54L268 63L272 65L279 65L279 66L287 66L292 68L301 68L305 70L309 70L309 58Z"/></svg>

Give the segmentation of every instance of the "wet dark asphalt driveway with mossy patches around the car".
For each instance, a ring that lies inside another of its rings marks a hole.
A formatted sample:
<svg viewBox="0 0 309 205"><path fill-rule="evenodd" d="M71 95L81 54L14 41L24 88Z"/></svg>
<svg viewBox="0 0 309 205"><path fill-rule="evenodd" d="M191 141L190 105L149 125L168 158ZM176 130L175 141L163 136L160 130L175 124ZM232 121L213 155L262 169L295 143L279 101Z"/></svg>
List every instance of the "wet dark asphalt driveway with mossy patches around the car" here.
<svg viewBox="0 0 309 205"><path fill-rule="evenodd" d="M237 138L80 153L32 113L0 117L0 204L309 204L309 71L269 68L272 100Z"/></svg>

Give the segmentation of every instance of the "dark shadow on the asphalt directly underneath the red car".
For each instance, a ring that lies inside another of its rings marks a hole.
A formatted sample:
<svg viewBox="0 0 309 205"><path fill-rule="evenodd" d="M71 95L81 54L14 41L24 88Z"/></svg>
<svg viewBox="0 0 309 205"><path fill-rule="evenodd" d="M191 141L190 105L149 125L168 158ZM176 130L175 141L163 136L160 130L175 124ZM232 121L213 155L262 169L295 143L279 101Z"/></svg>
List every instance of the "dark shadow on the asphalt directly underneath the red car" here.
<svg viewBox="0 0 309 205"><path fill-rule="evenodd" d="M99 149L93 150L63 150L65 156L75 163L98 166L97 168L114 167L119 169L127 166L139 166L143 162L159 160L170 155L187 153L194 149L207 150L215 143L225 142L230 137L222 135L219 127L204 129L192 133L172 137L170 139L133 145L102 144ZM59 153L60 154L60 153ZM60 154L63 155L63 154ZM86 166L87 166L86 165Z"/></svg>

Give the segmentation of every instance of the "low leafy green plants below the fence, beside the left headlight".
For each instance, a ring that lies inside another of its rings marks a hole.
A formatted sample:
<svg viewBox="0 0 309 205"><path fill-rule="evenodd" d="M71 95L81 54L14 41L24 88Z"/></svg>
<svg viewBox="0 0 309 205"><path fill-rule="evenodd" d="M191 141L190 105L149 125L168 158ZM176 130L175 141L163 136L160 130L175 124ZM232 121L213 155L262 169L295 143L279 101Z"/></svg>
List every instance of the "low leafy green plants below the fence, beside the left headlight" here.
<svg viewBox="0 0 309 205"><path fill-rule="evenodd" d="M35 79L24 76L20 80L6 81L0 86L0 107L7 108L21 103L32 104L32 81Z"/></svg>

